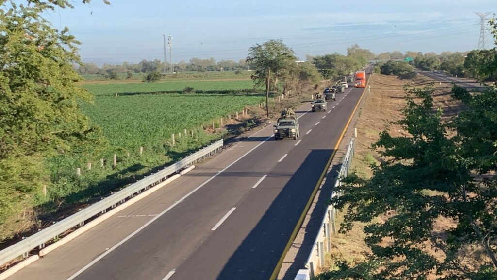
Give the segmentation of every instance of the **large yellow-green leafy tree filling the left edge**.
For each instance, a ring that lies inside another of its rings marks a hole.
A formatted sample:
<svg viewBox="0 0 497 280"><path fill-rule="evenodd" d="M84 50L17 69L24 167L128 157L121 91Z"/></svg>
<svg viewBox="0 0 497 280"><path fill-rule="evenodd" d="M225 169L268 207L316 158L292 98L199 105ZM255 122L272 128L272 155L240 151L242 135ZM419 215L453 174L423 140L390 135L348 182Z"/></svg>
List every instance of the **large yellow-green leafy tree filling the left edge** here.
<svg viewBox="0 0 497 280"><path fill-rule="evenodd" d="M77 103L91 101L75 84L78 41L42 17L47 10L72 7L70 1L28 2L0 2L1 227L21 203L50 185L46 158L89 152L101 140Z"/></svg>

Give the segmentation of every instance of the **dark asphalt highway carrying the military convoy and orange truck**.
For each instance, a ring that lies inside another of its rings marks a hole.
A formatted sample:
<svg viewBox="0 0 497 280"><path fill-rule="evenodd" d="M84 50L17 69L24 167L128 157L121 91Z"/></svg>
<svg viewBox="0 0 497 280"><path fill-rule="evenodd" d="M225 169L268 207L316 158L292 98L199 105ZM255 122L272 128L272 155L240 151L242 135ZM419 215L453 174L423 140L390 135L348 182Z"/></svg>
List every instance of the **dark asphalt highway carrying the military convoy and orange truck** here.
<svg viewBox="0 0 497 280"><path fill-rule="evenodd" d="M297 110L298 140L268 126L9 280L267 280L364 89Z"/></svg>

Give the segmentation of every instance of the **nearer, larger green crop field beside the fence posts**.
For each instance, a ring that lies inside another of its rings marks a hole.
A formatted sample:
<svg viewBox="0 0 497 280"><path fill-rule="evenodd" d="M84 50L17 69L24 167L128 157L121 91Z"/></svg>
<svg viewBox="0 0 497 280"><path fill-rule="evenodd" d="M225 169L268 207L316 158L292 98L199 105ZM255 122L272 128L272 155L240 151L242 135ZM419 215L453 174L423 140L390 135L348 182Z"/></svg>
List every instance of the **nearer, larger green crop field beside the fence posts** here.
<svg viewBox="0 0 497 280"><path fill-rule="evenodd" d="M83 112L100 126L114 147L157 146L171 134L191 130L220 116L260 103L260 95L139 94L97 96Z"/></svg>

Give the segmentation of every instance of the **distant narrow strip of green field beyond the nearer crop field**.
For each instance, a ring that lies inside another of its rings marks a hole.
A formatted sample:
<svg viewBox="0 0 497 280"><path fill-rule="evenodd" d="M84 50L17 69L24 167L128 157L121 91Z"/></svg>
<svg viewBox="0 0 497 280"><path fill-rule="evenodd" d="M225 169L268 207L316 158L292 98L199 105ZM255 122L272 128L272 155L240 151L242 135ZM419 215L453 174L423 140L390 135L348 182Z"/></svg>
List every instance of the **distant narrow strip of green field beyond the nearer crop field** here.
<svg viewBox="0 0 497 280"><path fill-rule="evenodd" d="M219 81L166 81L158 83L94 83L83 84L82 87L94 96L136 95L142 93L182 92L185 87L192 87L200 92L233 93L253 89L251 80L219 80Z"/></svg>

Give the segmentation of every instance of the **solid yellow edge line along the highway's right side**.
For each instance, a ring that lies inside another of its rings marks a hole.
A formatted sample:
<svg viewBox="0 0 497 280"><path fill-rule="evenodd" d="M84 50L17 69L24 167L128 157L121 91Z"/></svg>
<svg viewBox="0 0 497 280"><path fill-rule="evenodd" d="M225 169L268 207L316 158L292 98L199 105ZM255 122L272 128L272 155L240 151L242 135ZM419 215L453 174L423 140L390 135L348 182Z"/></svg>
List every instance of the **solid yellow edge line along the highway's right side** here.
<svg viewBox="0 0 497 280"><path fill-rule="evenodd" d="M278 264L274 268L274 271L271 274L271 277L269 278L269 280L276 280L276 277L278 277L278 273L279 273L279 271L281 269L281 266L283 265L283 261L285 259L286 253L288 253L288 250L290 250L290 246L292 246L292 243L295 240L295 237L297 236L297 233L299 232L299 229L302 226L302 223L304 222L304 218L307 215L307 212L309 211L309 208L311 208L311 204L312 204L312 202L314 200L314 197L316 196L316 193L318 193L319 186L321 185L321 183L323 182L323 179L325 178L326 171L328 171L328 168L330 168L331 161L333 160L333 157L336 154L336 150L340 146L340 143L341 143L341 141L343 139L343 136L345 135L345 132L347 131L348 126L350 125L350 122L352 121L352 118L354 117L355 111L359 107L359 104L361 103L361 100L364 97L364 93L366 92L366 87L367 87L368 82L369 82L369 78L368 78L368 80L366 82L366 86L364 87L364 90L362 91L361 97L357 101L357 104L355 105L354 111L352 111L352 114L350 114L350 117L348 118L347 124L343 128L343 131L340 134L340 137L338 138L338 141L336 142L336 145L335 145L335 147L333 149L333 153L331 153L330 159L328 159L328 162L326 163L325 169L321 173L321 177L319 177L318 183L314 187L314 190L313 190L313 192L311 194L311 197L309 198L309 201L307 201L306 207L304 207L304 211L302 212L302 215L300 215L300 218L297 221L297 225L293 229L292 235L290 236L290 239L288 240L288 243L285 246L285 250L283 250L283 254L281 255L281 257L280 257L280 259L278 261Z"/></svg>

